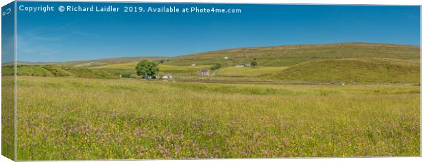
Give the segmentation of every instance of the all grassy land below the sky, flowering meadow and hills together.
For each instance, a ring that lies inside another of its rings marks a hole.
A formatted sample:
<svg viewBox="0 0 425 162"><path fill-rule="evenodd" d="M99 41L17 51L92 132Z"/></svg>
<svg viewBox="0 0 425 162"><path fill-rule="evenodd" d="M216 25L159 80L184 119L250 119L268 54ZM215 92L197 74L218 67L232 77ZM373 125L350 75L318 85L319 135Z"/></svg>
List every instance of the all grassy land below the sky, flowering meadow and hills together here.
<svg viewBox="0 0 425 162"><path fill-rule="evenodd" d="M174 78L137 76L143 59ZM420 47L371 43L22 62L17 160L417 157L420 66Z"/></svg>

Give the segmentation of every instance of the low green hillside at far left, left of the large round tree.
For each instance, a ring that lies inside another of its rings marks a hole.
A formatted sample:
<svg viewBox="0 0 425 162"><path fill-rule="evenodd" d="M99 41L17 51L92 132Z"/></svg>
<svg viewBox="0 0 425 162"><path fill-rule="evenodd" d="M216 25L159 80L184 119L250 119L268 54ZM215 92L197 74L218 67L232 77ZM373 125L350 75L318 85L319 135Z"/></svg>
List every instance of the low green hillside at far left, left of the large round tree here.
<svg viewBox="0 0 425 162"><path fill-rule="evenodd" d="M99 79L114 79L119 78L119 74L113 71L62 67L58 65L17 65L17 76L44 76L44 77L77 77L77 78L99 78ZM13 67L3 66L3 76L12 76Z"/></svg>

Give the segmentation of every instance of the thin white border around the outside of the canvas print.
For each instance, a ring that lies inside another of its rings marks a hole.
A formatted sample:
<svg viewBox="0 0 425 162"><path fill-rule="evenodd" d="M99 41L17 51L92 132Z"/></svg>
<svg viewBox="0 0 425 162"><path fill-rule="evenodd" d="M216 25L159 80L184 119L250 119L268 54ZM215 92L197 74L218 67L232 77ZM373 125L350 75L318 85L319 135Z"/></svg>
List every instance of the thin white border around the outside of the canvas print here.
<svg viewBox="0 0 425 162"><path fill-rule="evenodd" d="M31 1L31 0L22 0L22 1ZM33 0L34 1L34 0ZM56 1L66 1L66 0L56 0ZM71 0L71 1L84 1L84 0ZM348 0L348 1L338 1L338 0L86 0L86 1L106 1L106 2L169 2L169 3L286 3L286 4L340 4L340 5L422 5L423 2L420 0ZM0 5L6 5L12 2L11 0L1 0ZM422 8L421 8L422 11ZM0 16L1 17L1 16ZM421 12L421 47L424 39L422 33L422 27L424 19L424 13ZM1 20L1 19L0 19ZM1 26L1 21L0 21ZM0 32L1 36L1 32ZM0 40L1 44L1 40ZM1 51L0 51L1 54ZM422 54L422 50L421 50ZM422 55L421 55L422 58ZM1 58L0 58L1 60ZM424 65L424 60L421 59L421 65ZM423 80L423 76L425 67L421 66L421 80ZM1 71L1 69L0 69ZM421 86L421 92L424 91L424 87ZM1 93L1 91L0 91ZM421 108L424 107L424 96L421 93ZM0 101L1 104L1 101ZM422 109L421 109L422 112ZM1 113L0 113L1 117ZM421 114L421 154L424 156L424 138L422 130L424 130L424 124L422 124L422 119L424 119L424 113ZM0 127L1 132L1 127ZM16 132L16 131L15 131ZM0 135L1 137L1 135ZM0 140L1 143L1 140ZM0 147L1 150L1 147ZM0 156L0 161L10 161L3 156ZM169 162L169 161L193 161L193 160L154 160L158 162ZM311 158L311 159L204 159L202 161L424 161L422 157L384 157L384 158Z"/></svg>

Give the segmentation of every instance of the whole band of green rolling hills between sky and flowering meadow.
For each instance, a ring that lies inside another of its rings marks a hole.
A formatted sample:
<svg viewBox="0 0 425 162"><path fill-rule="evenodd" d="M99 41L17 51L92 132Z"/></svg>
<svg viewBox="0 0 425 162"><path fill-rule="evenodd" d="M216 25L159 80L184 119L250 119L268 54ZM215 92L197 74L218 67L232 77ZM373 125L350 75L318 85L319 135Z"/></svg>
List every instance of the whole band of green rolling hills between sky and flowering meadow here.
<svg viewBox="0 0 425 162"><path fill-rule="evenodd" d="M199 69L220 63L210 78L250 78L317 82L420 82L420 47L376 43L284 45L223 49L173 58L105 58L73 62L26 62L18 75L83 78L137 77L140 60L165 60L160 74L194 78ZM234 67L258 62L258 67ZM195 66L191 66L196 64ZM31 66L29 66L31 65ZM4 70L4 68L3 68ZM7 71L7 69L6 69Z"/></svg>

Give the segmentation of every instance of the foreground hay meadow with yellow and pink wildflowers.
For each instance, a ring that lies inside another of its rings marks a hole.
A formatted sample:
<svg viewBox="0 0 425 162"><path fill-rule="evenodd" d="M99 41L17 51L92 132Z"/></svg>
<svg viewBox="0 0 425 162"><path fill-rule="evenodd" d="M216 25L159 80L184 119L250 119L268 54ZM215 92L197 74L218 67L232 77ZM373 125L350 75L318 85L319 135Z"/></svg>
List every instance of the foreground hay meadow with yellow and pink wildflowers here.
<svg viewBox="0 0 425 162"><path fill-rule="evenodd" d="M17 84L18 160L420 155L420 86Z"/></svg>

